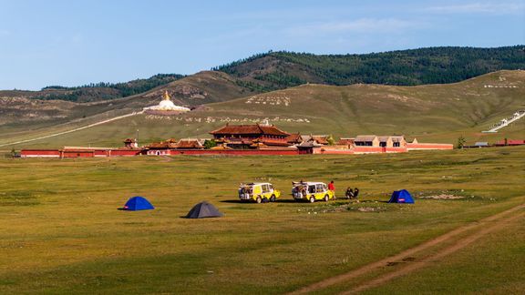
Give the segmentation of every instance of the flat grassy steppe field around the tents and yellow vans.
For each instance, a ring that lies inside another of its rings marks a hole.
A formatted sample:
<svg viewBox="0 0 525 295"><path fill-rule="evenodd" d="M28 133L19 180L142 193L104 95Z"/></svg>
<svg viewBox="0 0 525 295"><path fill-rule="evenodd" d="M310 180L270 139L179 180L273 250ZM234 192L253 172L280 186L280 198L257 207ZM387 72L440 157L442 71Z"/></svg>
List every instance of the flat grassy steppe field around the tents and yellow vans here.
<svg viewBox="0 0 525 295"><path fill-rule="evenodd" d="M0 159L0 293L285 293L525 203L525 148L398 155ZM360 202L297 203L291 181L335 180ZM237 201L242 181L283 190ZM414 205L387 204L407 188ZM458 199L429 196L453 195ZM155 210L117 210L141 195ZM182 219L208 200L221 219ZM519 293L518 219L366 293ZM490 224L487 223L487 226ZM468 232L466 232L467 234ZM459 239L459 238L458 238ZM448 243L453 244L453 240ZM437 249L416 253L423 259ZM320 293L351 290L403 263Z"/></svg>

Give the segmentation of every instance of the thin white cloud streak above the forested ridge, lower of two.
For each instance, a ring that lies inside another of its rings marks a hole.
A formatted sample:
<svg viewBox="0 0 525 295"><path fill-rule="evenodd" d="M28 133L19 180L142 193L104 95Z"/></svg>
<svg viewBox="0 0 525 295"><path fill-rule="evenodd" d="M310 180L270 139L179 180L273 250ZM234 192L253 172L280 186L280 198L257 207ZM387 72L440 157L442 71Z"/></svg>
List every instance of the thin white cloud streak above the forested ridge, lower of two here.
<svg viewBox="0 0 525 295"><path fill-rule="evenodd" d="M360 18L353 21L323 22L293 26L285 29L291 35L363 33L401 33L407 29L421 28L425 24L415 20L396 18Z"/></svg>

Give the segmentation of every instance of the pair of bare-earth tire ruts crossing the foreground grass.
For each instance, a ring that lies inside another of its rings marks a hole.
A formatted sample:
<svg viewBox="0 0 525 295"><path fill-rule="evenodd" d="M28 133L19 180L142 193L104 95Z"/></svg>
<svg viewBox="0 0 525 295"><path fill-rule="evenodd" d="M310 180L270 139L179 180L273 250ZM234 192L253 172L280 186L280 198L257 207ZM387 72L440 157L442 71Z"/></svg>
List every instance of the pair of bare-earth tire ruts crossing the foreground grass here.
<svg viewBox="0 0 525 295"><path fill-rule="evenodd" d="M464 233L464 232L466 232L468 230L477 229L480 226L485 225L486 223L494 222L489 228L481 229L478 232L475 232L473 234L468 235L468 237L466 237L466 238L459 239L459 241L463 241L462 244L459 244L459 242L455 243L454 245L452 245L452 246L450 246L448 248L441 249L434 256L431 256L431 257L427 258L427 259L438 259L438 258L436 258L436 256L439 256L439 257L446 256L446 255L448 255L448 254L450 254L450 253L452 253L452 252L454 252L454 251L456 251L458 249L461 249L461 248L464 248L464 247L468 246L468 244L470 244L471 242L474 242L475 240L481 238L483 235L489 233L490 231L493 231L495 229L499 229L499 227L504 226L506 221L508 221L508 219L503 219L503 220L498 220L498 219L504 218L504 217L506 217L509 214L512 214L512 213L514 213L516 211L519 211L520 209L525 209L525 204L520 204L520 205L518 205L516 207L513 207L511 209L507 209L505 211L499 212L499 213L494 214L492 216L489 216L487 218L479 219L477 221L468 223L465 226L461 226L458 229L453 229L451 231L448 231L447 233L445 233L445 234L443 234L441 236L438 236L437 238L430 239L427 242L424 242L424 243L422 243L422 244L420 244L420 245L418 245L418 246L416 246L414 248L404 250L404 251L402 251L402 252L400 252L400 253L398 253L398 254L396 254L394 256L390 256L390 257L387 257L385 259L377 260L376 262L372 262L372 263L366 264L366 265L364 265L364 266L362 266L362 267L360 267L358 269L350 270L348 272L345 272L343 274L337 275L335 277L318 281L318 282L316 282L316 283L314 283L312 285L306 286L306 287L304 287L304 288L302 288L300 290L296 290L296 291L292 292L291 294L304 294L304 293L313 292L313 291L316 291L316 290L323 290L323 289L331 287L331 286L333 286L335 284L343 283L346 280L352 280L352 279L358 278L358 277L364 275L365 273L368 273L368 272L371 272L371 271L374 271L374 270L382 269L382 268L388 266L389 263L392 263L392 261L406 261L408 257L416 254L417 252L424 251L424 250L427 250L427 249L431 249L433 247L436 247L436 246L440 245L441 243L447 242L447 241L457 237L458 235L460 235L460 234L462 234L462 233ZM512 220L513 219L517 219L518 217L520 217L520 215L519 216L515 216L514 218L512 218ZM470 239L472 239L472 240L470 240ZM458 246L459 246L459 248L457 249ZM410 264L408 264L406 268L408 268L410 266L410 269L407 270L407 272L412 271L412 269L414 267L417 267L417 269L418 269L419 268L418 267L419 264L422 265L421 267L427 265L425 263L420 263L420 262L421 262L421 260L419 260L417 263L410 263ZM414 270L416 270L416 269L414 269ZM400 270L396 269L394 273L387 273L387 274L377 278L376 280L369 280L368 282L365 282L364 284L357 286L354 290L350 290L349 294L352 293L352 292L357 292L359 290L365 290L365 289L368 289L368 288L372 288L372 287L378 286L379 284L381 284L383 282L386 282L387 280L392 280L392 279L398 277L398 275L396 275L396 274L399 271ZM357 288L359 288L359 289L357 289Z"/></svg>

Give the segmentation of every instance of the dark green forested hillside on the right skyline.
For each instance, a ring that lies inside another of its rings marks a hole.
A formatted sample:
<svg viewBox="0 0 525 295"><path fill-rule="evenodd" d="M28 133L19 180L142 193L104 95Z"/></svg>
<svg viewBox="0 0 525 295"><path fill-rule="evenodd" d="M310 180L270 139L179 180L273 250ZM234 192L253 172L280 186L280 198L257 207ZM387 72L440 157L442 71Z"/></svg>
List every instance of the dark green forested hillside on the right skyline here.
<svg viewBox="0 0 525 295"><path fill-rule="evenodd" d="M242 78L260 90L307 82L414 86L459 82L501 69L525 68L525 46L498 48L430 47L365 55L269 52L214 70Z"/></svg>

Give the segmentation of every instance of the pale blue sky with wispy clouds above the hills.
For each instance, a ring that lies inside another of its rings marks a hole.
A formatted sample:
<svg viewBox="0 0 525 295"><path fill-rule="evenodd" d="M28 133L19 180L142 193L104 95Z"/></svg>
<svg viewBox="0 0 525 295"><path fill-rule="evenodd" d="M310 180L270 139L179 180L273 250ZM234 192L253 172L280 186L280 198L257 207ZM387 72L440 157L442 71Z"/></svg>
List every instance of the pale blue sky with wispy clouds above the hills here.
<svg viewBox="0 0 525 295"><path fill-rule="evenodd" d="M525 44L525 0L0 0L0 89L193 74L268 50Z"/></svg>

